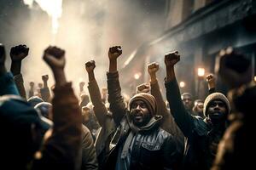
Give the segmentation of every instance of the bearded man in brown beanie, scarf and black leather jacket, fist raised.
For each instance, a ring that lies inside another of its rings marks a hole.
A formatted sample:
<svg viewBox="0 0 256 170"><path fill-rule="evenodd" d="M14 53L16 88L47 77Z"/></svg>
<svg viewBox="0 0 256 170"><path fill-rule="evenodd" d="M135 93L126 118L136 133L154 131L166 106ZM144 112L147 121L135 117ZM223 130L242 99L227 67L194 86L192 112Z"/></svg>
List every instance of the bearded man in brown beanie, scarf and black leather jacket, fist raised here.
<svg viewBox="0 0 256 170"><path fill-rule="evenodd" d="M119 86L117 58L120 47L109 48L108 100L119 126L110 144L107 169L170 169L177 167L179 153L172 135L160 128L161 116L151 94L136 94L125 108Z"/></svg>

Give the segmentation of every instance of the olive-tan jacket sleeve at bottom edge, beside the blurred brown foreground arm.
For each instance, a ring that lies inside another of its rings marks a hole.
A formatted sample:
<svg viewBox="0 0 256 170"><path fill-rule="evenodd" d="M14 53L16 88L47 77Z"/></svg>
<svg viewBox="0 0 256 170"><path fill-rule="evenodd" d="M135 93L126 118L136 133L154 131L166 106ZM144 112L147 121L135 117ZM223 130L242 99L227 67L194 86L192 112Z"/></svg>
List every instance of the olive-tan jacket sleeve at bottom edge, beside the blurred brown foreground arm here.
<svg viewBox="0 0 256 170"><path fill-rule="evenodd" d="M90 131L82 125L82 170L98 169L96 149Z"/></svg>

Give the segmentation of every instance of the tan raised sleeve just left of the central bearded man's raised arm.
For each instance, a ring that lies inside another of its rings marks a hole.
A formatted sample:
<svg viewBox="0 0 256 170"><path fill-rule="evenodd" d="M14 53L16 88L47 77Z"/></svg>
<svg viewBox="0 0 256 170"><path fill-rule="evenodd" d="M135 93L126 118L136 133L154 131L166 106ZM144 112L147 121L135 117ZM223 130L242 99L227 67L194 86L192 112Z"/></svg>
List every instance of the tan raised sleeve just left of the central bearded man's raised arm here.
<svg viewBox="0 0 256 170"><path fill-rule="evenodd" d="M100 123L102 127L105 124L108 111L106 106L102 102L100 88L96 80L88 83L88 91L90 94L91 103L94 106L93 111L95 113L97 121Z"/></svg>

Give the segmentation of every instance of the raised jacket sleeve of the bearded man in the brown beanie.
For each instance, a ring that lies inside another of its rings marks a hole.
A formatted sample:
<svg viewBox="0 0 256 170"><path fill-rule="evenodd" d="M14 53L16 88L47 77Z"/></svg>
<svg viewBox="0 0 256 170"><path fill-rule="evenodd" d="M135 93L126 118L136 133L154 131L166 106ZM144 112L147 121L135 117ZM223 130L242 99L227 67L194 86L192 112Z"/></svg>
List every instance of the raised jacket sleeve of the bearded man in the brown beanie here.
<svg viewBox="0 0 256 170"><path fill-rule="evenodd" d="M119 125L123 116L125 116L125 102L121 95L121 87L119 84L119 73L108 72L108 102L109 109L113 113L113 120L116 125Z"/></svg>

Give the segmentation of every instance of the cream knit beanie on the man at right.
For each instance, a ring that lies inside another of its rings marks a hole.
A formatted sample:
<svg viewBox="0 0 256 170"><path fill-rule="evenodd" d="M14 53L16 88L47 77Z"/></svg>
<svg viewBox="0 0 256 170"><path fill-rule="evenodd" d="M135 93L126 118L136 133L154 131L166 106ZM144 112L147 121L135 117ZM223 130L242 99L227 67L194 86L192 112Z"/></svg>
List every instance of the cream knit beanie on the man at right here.
<svg viewBox="0 0 256 170"><path fill-rule="evenodd" d="M226 98L226 96L224 96L224 94L220 94L220 93L213 93L207 96L207 99L205 99L205 103L204 103L204 115L207 116L207 111L208 111L208 105L211 103L211 101L213 100L221 100L224 102L224 104L227 107L228 110L228 114L231 111L231 107L230 107L230 102L229 100Z"/></svg>

